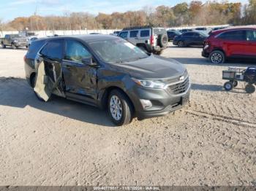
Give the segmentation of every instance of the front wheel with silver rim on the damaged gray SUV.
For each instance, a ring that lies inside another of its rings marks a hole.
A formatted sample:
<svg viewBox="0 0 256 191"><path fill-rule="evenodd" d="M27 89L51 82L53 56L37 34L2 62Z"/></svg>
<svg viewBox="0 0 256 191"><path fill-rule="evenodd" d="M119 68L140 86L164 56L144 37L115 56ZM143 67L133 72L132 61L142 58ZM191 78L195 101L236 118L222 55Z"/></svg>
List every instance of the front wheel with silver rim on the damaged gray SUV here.
<svg viewBox="0 0 256 191"><path fill-rule="evenodd" d="M113 104L113 100L118 98L118 105L121 107L121 116L118 116L117 108ZM112 105L112 106L111 106ZM112 110L111 110L112 108ZM115 112L116 111L116 112ZM121 90L112 90L108 96L108 114L112 122L117 125L127 125L132 122L133 118L133 107L127 95L121 92ZM116 118L114 117L116 116Z"/></svg>

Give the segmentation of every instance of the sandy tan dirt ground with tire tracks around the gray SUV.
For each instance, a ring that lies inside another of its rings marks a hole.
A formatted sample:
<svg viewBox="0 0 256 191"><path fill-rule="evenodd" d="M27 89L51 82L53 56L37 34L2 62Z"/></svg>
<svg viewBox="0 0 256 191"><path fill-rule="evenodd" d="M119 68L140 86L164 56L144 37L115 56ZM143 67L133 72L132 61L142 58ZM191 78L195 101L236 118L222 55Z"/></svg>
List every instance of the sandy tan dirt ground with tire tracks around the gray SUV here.
<svg viewBox="0 0 256 191"><path fill-rule="evenodd" d="M169 47L187 65L188 106L116 128L104 111L26 82L26 50L0 49L0 185L256 185L256 93L225 92L201 48Z"/></svg>

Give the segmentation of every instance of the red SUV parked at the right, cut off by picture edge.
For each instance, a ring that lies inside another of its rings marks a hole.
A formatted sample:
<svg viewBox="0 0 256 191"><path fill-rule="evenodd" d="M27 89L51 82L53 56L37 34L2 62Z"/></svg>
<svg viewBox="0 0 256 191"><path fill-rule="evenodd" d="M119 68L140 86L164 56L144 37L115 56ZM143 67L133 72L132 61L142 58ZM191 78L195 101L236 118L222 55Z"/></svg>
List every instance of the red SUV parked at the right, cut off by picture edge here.
<svg viewBox="0 0 256 191"><path fill-rule="evenodd" d="M256 58L256 27L211 32L204 42L202 55L212 63L224 63L227 58Z"/></svg>

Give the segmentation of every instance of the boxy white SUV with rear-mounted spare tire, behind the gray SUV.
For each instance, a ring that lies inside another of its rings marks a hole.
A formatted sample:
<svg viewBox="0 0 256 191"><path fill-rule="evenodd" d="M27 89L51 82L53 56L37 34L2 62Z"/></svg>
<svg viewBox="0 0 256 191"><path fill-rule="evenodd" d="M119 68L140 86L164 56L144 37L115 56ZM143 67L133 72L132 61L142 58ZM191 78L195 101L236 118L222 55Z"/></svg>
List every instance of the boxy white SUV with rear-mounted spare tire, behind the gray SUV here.
<svg viewBox="0 0 256 191"><path fill-rule="evenodd" d="M158 55L167 47L168 43L166 30L160 27L140 26L124 28L118 36L146 52L153 52Z"/></svg>

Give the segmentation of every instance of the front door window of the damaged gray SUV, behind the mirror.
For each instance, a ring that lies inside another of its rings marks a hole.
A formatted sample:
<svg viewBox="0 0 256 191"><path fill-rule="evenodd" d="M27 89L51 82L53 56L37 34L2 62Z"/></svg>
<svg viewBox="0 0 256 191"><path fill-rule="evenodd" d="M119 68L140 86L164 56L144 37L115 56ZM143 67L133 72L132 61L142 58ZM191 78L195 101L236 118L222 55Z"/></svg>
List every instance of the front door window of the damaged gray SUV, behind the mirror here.
<svg viewBox="0 0 256 191"><path fill-rule="evenodd" d="M82 63L83 58L91 57L91 53L80 42L75 40L66 41L65 60Z"/></svg>

